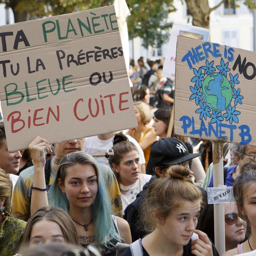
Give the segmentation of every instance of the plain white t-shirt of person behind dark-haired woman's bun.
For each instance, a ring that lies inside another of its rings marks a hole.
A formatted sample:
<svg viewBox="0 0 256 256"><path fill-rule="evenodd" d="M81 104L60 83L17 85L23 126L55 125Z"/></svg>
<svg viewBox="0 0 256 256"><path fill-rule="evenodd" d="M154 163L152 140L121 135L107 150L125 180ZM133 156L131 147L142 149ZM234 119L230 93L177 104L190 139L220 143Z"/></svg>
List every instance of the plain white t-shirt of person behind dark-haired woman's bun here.
<svg viewBox="0 0 256 256"><path fill-rule="evenodd" d="M140 163L145 164L146 161L145 161L144 153L143 153L142 148L138 144L138 142L134 138L132 138L131 136L129 136L127 134L126 134L126 137L138 149L139 156L140 156ZM108 151L108 149L113 147L113 139L114 139L114 136L108 140L101 140L98 136L92 136L92 137L85 138L83 151L87 152L89 154L94 154L94 153L99 153L99 152L105 153ZM97 160L97 162L100 162L103 164L108 164L108 159L106 157L97 157L95 159Z"/></svg>

